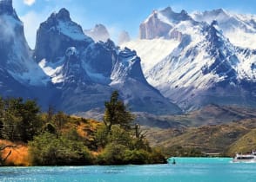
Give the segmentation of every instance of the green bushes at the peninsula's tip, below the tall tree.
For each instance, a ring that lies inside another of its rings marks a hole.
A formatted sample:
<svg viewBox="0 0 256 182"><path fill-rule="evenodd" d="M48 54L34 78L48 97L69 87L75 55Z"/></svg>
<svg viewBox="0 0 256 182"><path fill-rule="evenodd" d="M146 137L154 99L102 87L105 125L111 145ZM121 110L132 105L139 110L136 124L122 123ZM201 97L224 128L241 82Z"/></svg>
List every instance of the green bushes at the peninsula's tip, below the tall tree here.
<svg viewBox="0 0 256 182"><path fill-rule="evenodd" d="M133 133L120 127L112 127L111 134L106 133L106 128L98 130L98 137L104 140L104 150L98 156L98 163L102 165L121 164L154 164L165 163L162 153L148 145L146 140L139 139ZM105 138L104 138L104 137Z"/></svg>

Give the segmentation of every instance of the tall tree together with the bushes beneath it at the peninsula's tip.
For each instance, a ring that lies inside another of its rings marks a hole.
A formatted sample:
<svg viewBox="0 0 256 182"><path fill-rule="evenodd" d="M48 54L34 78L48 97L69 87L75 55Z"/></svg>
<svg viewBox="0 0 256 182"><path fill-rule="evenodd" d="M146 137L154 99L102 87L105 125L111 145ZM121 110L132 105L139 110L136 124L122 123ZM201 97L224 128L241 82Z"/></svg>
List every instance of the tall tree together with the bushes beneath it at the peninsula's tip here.
<svg viewBox="0 0 256 182"><path fill-rule="evenodd" d="M110 101L105 102L104 126L95 135L98 147L104 148L98 156L99 164L165 163L162 153L149 146L140 126L131 126L133 119L124 103L118 101L118 92L113 92Z"/></svg>

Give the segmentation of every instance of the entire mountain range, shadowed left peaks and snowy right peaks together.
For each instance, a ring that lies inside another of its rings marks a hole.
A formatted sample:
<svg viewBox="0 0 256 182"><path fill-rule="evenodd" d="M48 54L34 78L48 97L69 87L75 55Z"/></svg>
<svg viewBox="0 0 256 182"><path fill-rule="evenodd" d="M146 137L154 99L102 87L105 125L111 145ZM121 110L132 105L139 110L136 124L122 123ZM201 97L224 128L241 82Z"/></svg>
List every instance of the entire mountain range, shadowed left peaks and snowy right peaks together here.
<svg viewBox="0 0 256 182"><path fill-rule="evenodd" d="M61 9L40 24L35 49L11 0L0 1L0 22L3 97L36 99L44 110L68 114L102 113L113 90L139 114L256 107L256 16L167 7L140 24L138 40L124 32L119 47L104 25L83 30Z"/></svg>

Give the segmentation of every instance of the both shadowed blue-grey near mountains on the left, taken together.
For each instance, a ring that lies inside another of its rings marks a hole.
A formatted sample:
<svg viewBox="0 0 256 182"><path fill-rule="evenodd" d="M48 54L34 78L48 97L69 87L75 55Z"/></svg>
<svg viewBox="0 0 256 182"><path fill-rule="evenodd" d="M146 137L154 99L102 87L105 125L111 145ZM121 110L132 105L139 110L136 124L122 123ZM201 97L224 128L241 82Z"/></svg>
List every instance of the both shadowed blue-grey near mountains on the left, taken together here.
<svg viewBox="0 0 256 182"><path fill-rule="evenodd" d="M71 20L68 10L54 12L37 29L29 48L23 23L11 0L0 1L0 71L3 96L36 99L68 114L104 107L118 90L131 111L179 114L180 108L153 88L143 75L140 58L114 42L95 42Z"/></svg>

